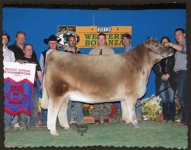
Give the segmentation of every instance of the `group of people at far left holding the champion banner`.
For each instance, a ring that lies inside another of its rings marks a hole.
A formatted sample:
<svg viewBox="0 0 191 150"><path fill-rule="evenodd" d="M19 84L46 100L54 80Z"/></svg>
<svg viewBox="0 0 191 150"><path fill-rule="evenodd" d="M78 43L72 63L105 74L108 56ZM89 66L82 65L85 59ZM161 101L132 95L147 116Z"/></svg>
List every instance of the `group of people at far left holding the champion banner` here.
<svg viewBox="0 0 191 150"><path fill-rule="evenodd" d="M42 85L42 71L31 44L25 43L25 33L17 32L15 43L7 47L10 37L6 33L2 35L3 56L4 62L18 62L36 64L36 76ZM35 78L36 79L36 78ZM40 87L42 89L42 87ZM20 129L26 129L27 126L35 127L38 122L38 88L36 81L34 82L34 96L32 100L30 119L25 113L12 116L9 113L4 113L5 130L14 128L16 123L19 123Z"/></svg>

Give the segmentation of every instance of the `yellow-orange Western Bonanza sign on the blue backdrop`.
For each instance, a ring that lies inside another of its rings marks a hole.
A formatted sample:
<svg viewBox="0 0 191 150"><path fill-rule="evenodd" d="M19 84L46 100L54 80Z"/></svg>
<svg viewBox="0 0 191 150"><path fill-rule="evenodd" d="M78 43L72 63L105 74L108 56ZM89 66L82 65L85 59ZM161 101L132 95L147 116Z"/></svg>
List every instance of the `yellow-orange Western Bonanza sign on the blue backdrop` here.
<svg viewBox="0 0 191 150"><path fill-rule="evenodd" d="M94 48L99 33L106 34L107 46L123 47L121 35L132 34L132 26L59 26L56 35L61 39L60 46L67 45L67 36L73 34L78 48Z"/></svg>

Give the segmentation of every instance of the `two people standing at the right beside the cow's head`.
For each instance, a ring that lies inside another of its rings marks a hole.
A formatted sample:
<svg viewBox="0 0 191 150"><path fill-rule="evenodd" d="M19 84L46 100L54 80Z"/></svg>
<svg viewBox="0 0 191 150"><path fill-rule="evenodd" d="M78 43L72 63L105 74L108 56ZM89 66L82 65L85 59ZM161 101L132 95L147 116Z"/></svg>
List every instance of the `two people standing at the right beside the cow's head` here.
<svg viewBox="0 0 191 150"><path fill-rule="evenodd" d="M185 31L177 28L174 32L176 44L168 37L162 37L161 43L172 47L175 54L163 59L153 67L156 73L156 94L162 99L162 112L165 123L173 123L176 116L175 94L178 93L182 107L180 125L188 125L188 99L187 99L187 47Z"/></svg>

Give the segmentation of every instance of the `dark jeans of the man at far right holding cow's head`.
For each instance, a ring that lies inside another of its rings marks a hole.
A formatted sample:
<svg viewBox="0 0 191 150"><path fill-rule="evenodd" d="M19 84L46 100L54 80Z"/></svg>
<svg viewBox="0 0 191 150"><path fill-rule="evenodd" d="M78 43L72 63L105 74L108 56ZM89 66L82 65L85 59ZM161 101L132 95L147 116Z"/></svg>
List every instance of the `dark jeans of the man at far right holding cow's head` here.
<svg viewBox="0 0 191 150"><path fill-rule="evenodd" d="M182 106L182 120L185 125L188 124L188 103L187 103L187 78L188 74L186 70L181 70L176 73L178 97Z"/></svg>

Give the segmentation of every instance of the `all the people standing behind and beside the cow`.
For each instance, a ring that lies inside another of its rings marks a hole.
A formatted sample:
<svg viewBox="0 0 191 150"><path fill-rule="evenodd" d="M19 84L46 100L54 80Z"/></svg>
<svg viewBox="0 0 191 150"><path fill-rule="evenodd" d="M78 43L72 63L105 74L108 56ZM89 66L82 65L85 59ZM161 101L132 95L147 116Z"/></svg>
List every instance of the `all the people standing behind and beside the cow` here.
<svg viewBox="0 0 191 150"><path fill-rule="evenodd" d="M46 54L49 49L59 50L58 39L55 35L50 35L44 42L48 45L47 50L41 52L40 60L37 60L35 51L31 44L26 44L26 35L24 32L17 32L15 37L15 43L7 47L9 36L6 33L2 35L3 43L3 56L4 62L18 62L18 63L35 63L36 76L40 81L40 90L42 90L42 78L45 69ZM182 124L187 125L187 104L186 104L186 82L187 82L187 61L186 61L186 44L185 44L185 32L183 29L177 29L175 31L175 39L177 44L170 42L168 37L163 37L161 43L167 46L173 47L176 50L175 55L162 60L160 63L153 67L156 72L156 92L159 93L164 88L167 88L164 92L160 93L162 98L162 108L164 120L166 122L173 122L175 118L175 91L176 85L179 93L179 99L183 108ZM64 47L64 52L80 54L80 50L77 48L77 39L74 35L68 36L68 45ZM132 47L131 35L125 33L122 35L122 43L125 47L124 51L130 51ZM115 51L107 46L107 39L104 33L99 33L97 38L98 46L89 52L89 55L110 55ZM175 82L175 76L177 82ZM36 78L35 78L36 79ZM32 101L31 114L28 117L25 113L21 113L18 116L12 116L9 113L4 113L5 130L14 128L15 123L18 122L20 129L26 129L29 127L38 127L38 88L35 81L34 84L34 99ZM141 101L138 100L136 104L136 115L138 120L141 120ZM74 111L72 111L72 107ZM75 114L73 114L73 112ZM95 124L109 123L109 116L111 114L111 103L94 104L93 105L93 117ZM67 109L68 122L70 123L71 117L74 116L74 121L78 124L84 123L83 104L80 102L69 102ZM101 116L103 119L101 119ZM47 110L41 109L41 125L47 125Z"/></svg>

